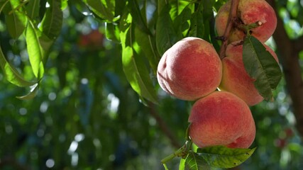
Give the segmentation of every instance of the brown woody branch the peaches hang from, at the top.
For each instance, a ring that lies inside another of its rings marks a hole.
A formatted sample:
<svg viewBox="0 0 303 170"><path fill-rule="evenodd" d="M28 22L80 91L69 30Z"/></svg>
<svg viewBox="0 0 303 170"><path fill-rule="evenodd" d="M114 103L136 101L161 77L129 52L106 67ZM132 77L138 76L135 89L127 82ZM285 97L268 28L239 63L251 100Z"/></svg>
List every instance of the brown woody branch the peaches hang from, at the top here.
<svg viewBox="0 0 303 170"><path fill-rule="evenodd" d="M228 21L226 24L226 28L224 30L224 35L221 37L222 45L219 54L221 60L225 57L225 51L228 43L229 33L231 33L231 28L233 27L233 21L237 17L238 4L239 4L239 0L231 0L231 8L229 10Z"/></svg>

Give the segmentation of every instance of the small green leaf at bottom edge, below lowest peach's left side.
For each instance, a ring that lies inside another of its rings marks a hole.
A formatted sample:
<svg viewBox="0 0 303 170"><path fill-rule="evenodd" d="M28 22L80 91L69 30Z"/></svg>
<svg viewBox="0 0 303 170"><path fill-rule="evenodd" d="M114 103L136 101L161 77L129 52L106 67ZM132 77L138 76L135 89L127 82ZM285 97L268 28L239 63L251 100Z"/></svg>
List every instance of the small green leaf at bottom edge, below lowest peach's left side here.
<svg viewBox="0 0 303 170"><path fill-rule="evenodd" d="M205 162L203 157L195 152L189 152L185 159L185 167L189 170L208 170L211 167Z"/></svg>

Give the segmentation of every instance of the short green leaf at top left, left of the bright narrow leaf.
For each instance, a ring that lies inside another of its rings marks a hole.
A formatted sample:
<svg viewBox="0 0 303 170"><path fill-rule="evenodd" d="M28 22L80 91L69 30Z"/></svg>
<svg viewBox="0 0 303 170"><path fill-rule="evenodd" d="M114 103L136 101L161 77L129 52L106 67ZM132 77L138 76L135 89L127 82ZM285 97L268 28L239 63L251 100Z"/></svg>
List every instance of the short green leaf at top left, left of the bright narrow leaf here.
<svg viewBox="0 0 303 170"><path fill-rule="evenodd" d="M19 8L19 0L11 0L10 2L13 10L6 15L6 26L7 30L9 30L9 35L16 39L26 28L26 16L23 13L22 8Z"/></svg>

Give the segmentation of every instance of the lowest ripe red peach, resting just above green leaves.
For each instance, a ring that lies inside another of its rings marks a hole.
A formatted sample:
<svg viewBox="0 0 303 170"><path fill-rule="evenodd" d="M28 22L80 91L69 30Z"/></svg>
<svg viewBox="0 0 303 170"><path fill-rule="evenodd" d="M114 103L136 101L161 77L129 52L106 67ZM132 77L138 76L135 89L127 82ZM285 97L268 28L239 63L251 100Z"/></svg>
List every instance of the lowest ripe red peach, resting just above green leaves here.
<svg viewBox="0 0 303 170"><path fill-rule="evenodd" d="M227 91L214 91L196 101L189 123L189 137L198 147L248 148L255 139L255 121L248 105Z"/></svg>

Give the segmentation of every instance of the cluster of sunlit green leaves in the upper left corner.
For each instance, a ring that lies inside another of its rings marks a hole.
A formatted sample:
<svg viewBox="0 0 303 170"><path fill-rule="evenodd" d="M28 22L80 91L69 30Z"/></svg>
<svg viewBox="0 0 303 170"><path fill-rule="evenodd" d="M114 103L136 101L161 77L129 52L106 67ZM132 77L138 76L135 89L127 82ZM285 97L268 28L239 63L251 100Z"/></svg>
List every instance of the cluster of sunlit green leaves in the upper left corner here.
<svg viewBox="0 0 303 170"><path fill-rule="evenodd" d="M40 6L48 7L40 8ZM0 47L0 64L6 79L21 87L31 87L31 92L19 98L32 98L43 78L45 63L51 45L60 34L62 26L62 2L52 1L0 1L0 13L9 30L11 38L26 39L28 58L34 74L34 79L28 80L18 72L18 69L7 61ZM33 86L35 85L35 86Z"/></svg>

